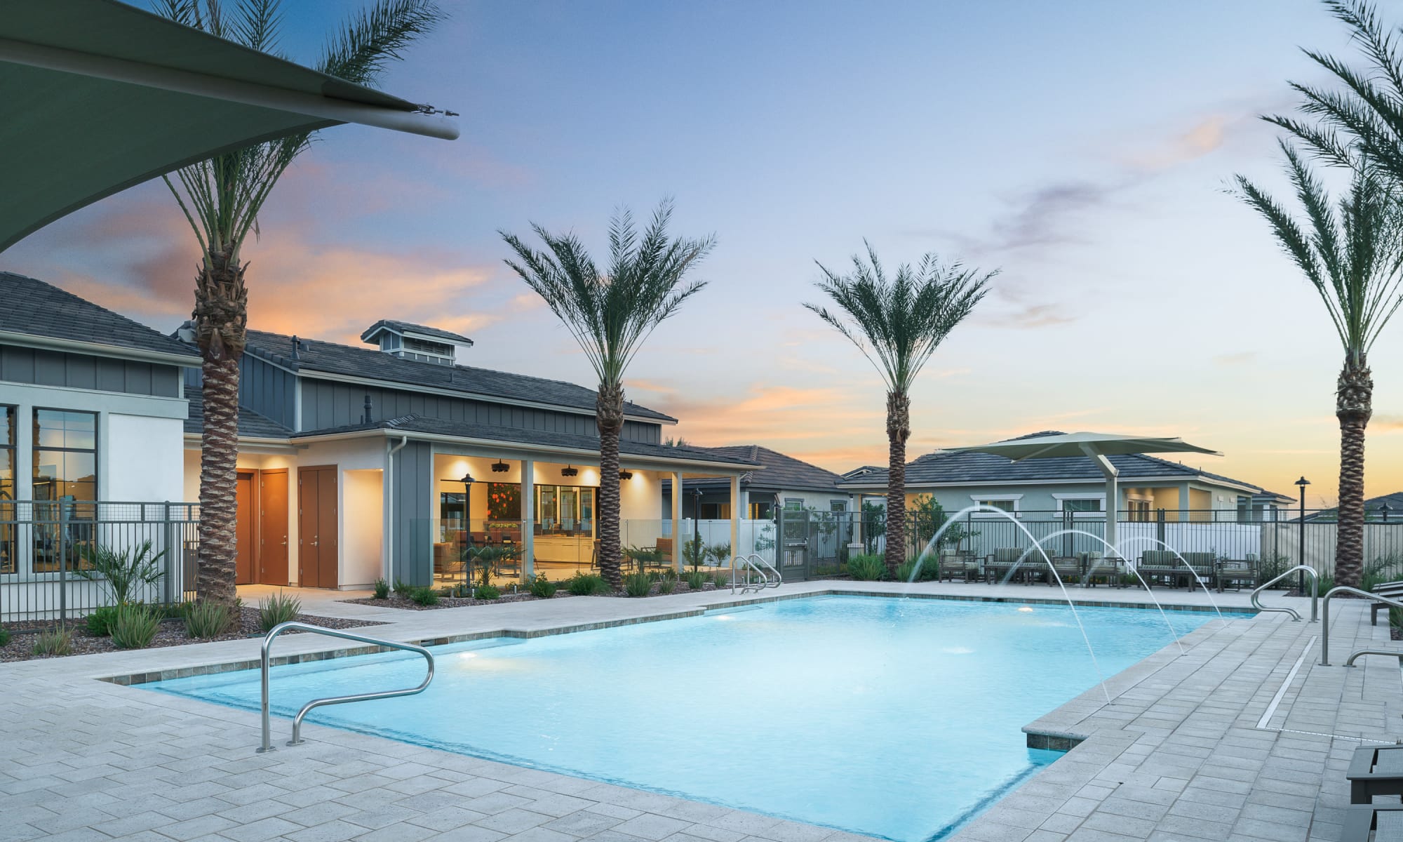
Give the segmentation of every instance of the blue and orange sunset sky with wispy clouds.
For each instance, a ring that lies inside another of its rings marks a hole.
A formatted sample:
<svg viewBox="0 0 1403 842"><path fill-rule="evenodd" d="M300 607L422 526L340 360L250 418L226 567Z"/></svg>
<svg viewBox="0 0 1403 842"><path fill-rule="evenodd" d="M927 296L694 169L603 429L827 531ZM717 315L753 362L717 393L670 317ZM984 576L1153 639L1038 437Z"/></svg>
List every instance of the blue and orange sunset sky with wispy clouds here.
<svg viewBox="0 0 1403 842"><path fill-rule="evenodd" d="M137 3L146 6L145 0ZM289 0L310 63L358 0ZM714 233L709 286L650 340L629 397L692 443L885 465L881 380L801 307L868 239L1002 268L912 394L909 455L1038 429L1179 435L1193 463L1334 502L1338 340L1226 194L1282 188L1299 46L1348 53L1313 0L1078 3L445 1L384 79L462 114L456 142L340 126L246 250L251 327L358 342L379 319L464 331L476 365L593 385L502 265L498 229L574 229L602 258L620 205ZM1403 7L1385 8L1403 22ZM196 246L160 182L0 254L170 330ZM1367 493L1403 490L1403 319L1372 354Z"/></svg>

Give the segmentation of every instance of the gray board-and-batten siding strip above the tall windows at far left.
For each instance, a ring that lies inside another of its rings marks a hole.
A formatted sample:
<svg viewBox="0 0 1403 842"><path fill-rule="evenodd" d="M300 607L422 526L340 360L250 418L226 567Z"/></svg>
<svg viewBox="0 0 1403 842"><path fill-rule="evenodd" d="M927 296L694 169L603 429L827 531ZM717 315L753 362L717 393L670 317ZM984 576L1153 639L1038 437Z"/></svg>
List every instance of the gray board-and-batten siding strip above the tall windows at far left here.
<svg viewBox="0 0 1403 842"><path fill-rule="evenodd" d="M181 396L180 369L174 365L20 345L0 345L0 380L156 397Z"/></svg>

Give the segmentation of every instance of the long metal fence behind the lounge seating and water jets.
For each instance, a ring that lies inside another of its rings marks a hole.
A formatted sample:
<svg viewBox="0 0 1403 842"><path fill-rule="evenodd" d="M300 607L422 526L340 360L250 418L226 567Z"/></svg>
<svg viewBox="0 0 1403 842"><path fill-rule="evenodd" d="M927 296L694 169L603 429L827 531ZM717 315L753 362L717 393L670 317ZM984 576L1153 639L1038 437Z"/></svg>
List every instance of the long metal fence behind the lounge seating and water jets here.
<svg viewBox="0 0 1403 842"><path fill-rule="evenodd" d="M1163 550L1249 561L1263 578L1295 564L1309 564L1323 575L1334 575L1338 536L1334 511L1308 509L1305 515L1302 518L1298 509L1117 512L1115 549L1120 557L1131 561ZM850 552L880 554L885 550L882 511L787 511L779 518L781 537L776 559L786 580L835 575L843 573ZM906 512L905 557L958 553L989 559L1007 554L1007 550L1035 553L1034 546L1052 557L1104 557L1110 554L1106 537L1103 512L1019 511L1005 515L981 511L958 516ZM1364 526L1364 564L1367 573L1403 578L1403 516L1371 514Z"/></svg>

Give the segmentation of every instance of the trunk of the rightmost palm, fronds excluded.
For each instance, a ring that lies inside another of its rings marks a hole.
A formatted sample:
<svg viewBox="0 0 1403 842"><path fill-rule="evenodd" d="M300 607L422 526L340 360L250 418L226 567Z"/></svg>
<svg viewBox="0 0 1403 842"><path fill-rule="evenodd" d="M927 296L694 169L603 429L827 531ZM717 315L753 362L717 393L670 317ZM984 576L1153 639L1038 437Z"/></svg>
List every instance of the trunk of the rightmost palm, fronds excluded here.
<svg viewBox="0 0 1403 842"><path fill-rule="evenodd" d="M1358 588L1364 574L1364 429L1374 414L1374 379L1364 356L1345 359L1334 414L1340 420L1340 521L1334 581Z"/></svg>

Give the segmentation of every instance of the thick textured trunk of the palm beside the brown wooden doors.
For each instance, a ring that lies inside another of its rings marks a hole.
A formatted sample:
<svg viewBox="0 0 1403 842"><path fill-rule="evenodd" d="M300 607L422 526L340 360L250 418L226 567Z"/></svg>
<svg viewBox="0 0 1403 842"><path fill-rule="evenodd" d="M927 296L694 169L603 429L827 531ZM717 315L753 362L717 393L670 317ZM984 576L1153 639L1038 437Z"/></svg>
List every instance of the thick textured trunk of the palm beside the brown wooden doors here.
<svg viewBox="0 0 1403 842"><path fill-rule="evenodd" d="M195 286L195 331L205 380L195 589L199 599L230 608L237 599L239 358L247 324L243 267L223 254L208 258Z"/></svg>

